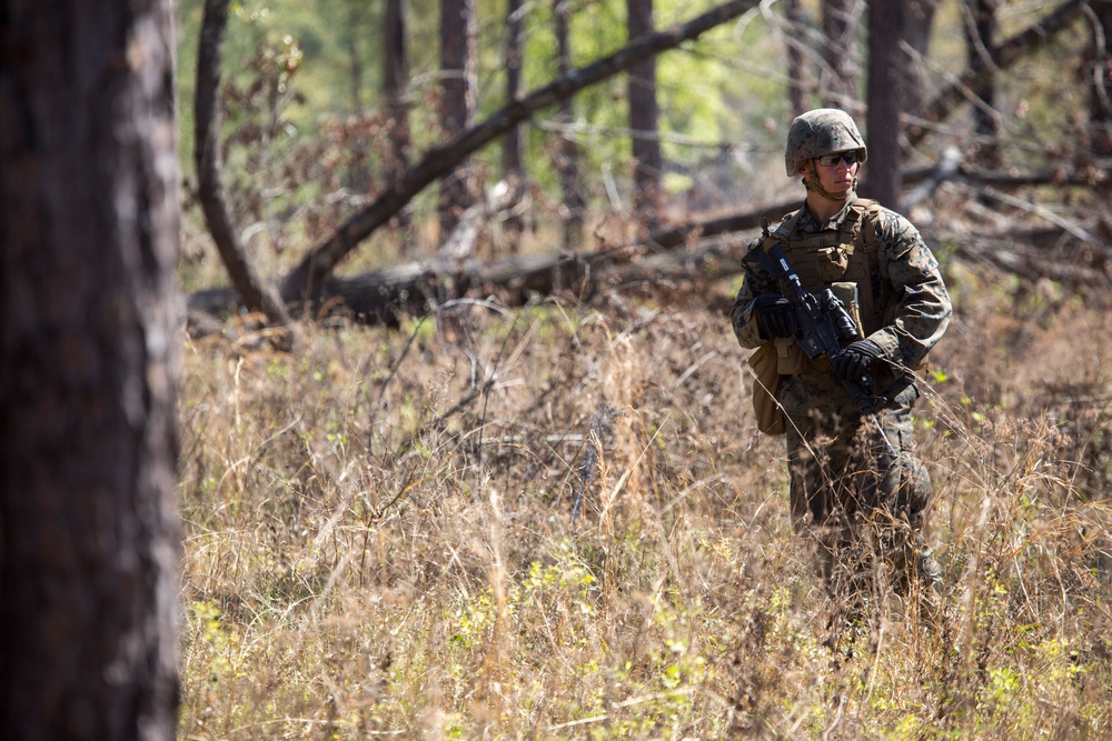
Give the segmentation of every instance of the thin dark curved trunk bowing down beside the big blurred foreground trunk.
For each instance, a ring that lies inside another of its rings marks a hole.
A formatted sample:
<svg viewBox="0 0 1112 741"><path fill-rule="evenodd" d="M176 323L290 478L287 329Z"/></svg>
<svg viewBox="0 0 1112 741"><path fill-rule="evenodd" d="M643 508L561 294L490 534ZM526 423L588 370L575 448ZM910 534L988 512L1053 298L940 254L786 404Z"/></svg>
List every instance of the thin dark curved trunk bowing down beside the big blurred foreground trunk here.
<svg viewBox="0 0 1112 741"><path fill-rule="evenodd" d="M255 269L232 226L220 182L220 60L228 24L228 0L206 0L197 53L197 94L193 102L193 162L205 222L220 260L244 303L261 311L271 324L292 327L292 319L277 291Z"/></svg>

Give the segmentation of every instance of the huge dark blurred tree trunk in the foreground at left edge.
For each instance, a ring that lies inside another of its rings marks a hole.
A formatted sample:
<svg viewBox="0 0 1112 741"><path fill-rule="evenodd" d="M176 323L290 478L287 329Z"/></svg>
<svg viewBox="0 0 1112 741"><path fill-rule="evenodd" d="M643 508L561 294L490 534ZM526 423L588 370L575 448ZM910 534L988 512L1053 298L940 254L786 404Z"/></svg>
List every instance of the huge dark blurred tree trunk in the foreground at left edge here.
<svg viewBox="0 0 1112 741"><path fill-rule="evenodd" d="M172 3L0 11L0 738L177 732Z"/></svg>

